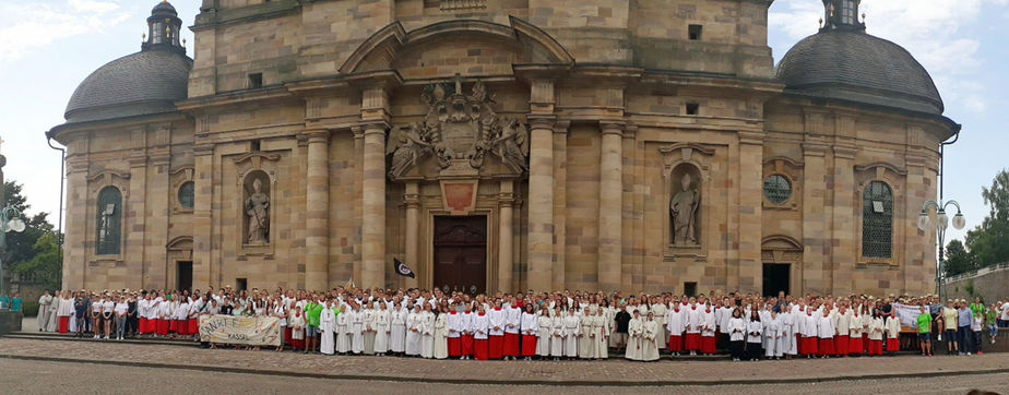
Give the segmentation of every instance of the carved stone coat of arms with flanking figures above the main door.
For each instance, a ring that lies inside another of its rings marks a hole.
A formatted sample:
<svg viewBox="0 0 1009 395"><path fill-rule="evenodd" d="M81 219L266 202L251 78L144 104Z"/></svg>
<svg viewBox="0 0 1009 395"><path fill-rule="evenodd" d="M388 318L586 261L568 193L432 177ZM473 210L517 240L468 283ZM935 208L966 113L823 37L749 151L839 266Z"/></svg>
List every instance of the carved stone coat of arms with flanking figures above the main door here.
<svg viewBox="0 0 1009 395"><path fill-rule="evenodd" d="M385 154L392 155L390 177L402 176L427 156L437 158L442 169L479 169L489 153L517 173L527 169L529 129L519 120L498 117L491 108L494 95L482 82L476 82L468 95L462 92L459 79L454 86L431 84L424 88L420 100L428 106L423 124L396 127L389 135Z"/></svg>

